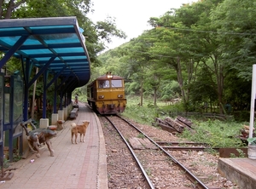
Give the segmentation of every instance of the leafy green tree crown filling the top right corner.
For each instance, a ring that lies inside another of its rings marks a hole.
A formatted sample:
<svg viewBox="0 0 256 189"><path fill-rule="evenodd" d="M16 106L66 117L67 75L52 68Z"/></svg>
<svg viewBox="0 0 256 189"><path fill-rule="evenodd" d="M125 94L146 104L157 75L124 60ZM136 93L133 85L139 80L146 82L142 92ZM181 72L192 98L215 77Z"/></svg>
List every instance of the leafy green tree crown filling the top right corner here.
<svg viewBox="0 0 256 189"><path fill-rule="evenodd" d="M250 81L256 50L255 0L225 0L212 11L212 26L218 29L218 39L223 42L219 51L238 77Z"/></svg>

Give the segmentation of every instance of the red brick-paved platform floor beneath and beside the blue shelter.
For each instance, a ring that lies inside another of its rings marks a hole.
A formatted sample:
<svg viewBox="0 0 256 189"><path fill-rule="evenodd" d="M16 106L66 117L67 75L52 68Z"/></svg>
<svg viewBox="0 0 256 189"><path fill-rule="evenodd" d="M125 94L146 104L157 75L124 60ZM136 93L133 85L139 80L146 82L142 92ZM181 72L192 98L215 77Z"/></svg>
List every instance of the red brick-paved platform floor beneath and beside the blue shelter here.
<svg viewBox="0 0 256 189"><path fill-rule="evenodd" d="M71 123L90 121L85 142L71 143ZM0 183L1 189L102 189L108 188L105 140L102 125L96 114L84 104L79 104L78 117L67 120L64 129L57 130L51 139L55 156L49 156L47 146L40 149L40 158L28 158L13 163L10 180Z"/></svg>

